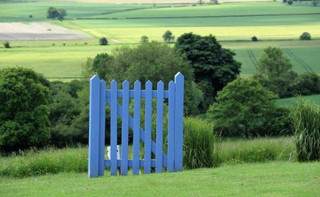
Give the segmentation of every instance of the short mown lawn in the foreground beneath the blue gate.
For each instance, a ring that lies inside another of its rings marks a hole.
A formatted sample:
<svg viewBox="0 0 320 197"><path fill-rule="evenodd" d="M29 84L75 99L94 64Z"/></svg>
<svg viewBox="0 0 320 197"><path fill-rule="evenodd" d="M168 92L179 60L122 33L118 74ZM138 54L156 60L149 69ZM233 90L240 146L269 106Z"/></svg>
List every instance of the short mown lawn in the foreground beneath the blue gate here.
<svg viewBox="0 0 320 197"><path fill-rule="evenodd" d="M317 196L319 184L319 162L274 162L98 179L77 173L0 178L0 196Z"/></svg>

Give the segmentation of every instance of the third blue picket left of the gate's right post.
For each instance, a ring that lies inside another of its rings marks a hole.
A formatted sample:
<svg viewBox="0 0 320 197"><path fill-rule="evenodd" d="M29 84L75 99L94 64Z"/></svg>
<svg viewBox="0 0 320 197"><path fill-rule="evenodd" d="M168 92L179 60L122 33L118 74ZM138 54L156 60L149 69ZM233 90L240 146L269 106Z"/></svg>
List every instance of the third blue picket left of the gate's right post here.
<svg viewBox="0 0 320 197"><path fill-rule="evenodd" d="M151 172L151 129L152 129L152 82L146 83L145 98L145 140L144 140L144 173Z"/></svg>

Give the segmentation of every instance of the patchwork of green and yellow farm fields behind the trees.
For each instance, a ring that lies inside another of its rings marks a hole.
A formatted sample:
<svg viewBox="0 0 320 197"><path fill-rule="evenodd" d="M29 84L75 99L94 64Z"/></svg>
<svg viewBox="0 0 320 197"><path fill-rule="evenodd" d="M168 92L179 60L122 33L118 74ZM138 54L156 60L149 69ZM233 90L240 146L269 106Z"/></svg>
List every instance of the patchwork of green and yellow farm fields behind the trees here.
<svg viewBox="0 0 320 197"><path fill-rule="evenodd" d="M92 35L91 38L65 41L11 41L11 49L0 46L0 68L23 66L50 79L78 78L87 57L110 53L121 45L135 46L142 35L148 36L149 40L162 41L162 34L170 30L176 38L186 32L216 36L223 47L237 54L235 58L242 63L242 76L250 76L256 71L263 49L269 46L282 48L296 72L320 73L320 7L313 7L310 2L292 6L279 2L183 7L158 4L156 8L151 4L103 2L0 1L0 22L51 23ZM66 9L66 20L46 19L49 6ZM29 18L30 14L32 18ZM298 40L305 31L313 40ZM252 36L257 36L259 42L251 42ZM100 37L107 37L110 45L98 46Z"/></svg>

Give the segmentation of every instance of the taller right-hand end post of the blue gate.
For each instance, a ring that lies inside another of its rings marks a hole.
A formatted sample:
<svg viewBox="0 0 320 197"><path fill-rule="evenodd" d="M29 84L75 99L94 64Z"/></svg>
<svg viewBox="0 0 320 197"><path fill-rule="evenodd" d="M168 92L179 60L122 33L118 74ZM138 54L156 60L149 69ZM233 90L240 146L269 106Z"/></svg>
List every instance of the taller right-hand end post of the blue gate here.
<svg viewBox="0 0 320 197"><path fill-rule="evenodd" d="M179 72L174 78L176 84L175 93L175 171L182 171L183 166L183 92L184 92L184 76Z"/></svg>

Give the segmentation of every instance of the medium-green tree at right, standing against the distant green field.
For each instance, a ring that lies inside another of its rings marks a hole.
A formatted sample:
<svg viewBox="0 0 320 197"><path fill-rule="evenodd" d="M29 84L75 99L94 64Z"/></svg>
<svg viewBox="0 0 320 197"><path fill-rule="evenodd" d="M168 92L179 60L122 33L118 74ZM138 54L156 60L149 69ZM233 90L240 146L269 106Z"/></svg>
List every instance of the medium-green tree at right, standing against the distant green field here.
<svg viewBox="0 0 320 197"><path fill-rule="evenodd" d="M257 73L253 76L262 86L281 98L291 96L297 74L292 71L290 60L280 48L268 47L258 61Z"/></svg>

